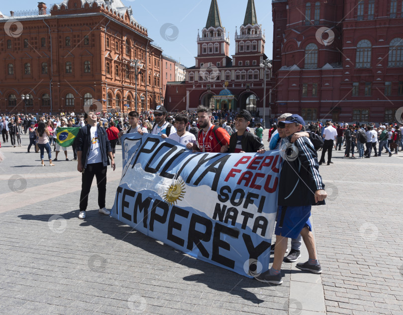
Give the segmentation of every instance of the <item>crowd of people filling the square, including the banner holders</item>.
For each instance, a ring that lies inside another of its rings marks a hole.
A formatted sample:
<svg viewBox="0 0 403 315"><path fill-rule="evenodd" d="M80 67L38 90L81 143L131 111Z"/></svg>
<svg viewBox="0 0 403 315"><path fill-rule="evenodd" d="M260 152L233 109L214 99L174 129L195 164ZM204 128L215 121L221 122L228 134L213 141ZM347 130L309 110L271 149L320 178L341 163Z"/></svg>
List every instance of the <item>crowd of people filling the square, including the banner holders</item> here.
<svg viewBox="0 0 403 315"><path fill-rule="evenodd" d="M185 145L193 152L214 153L264 153L263 128L260 122L254 122L251 113L242 110L237 113L222 111L212 112L211 109L199 106L193 112L171 114L162 105L155 110L141 113L130 111L126 116L118 113L85 113L84 116L74 112L60 115L2 115L0 131L3 142L10 137L13 147L21 146L21 134L29 133L30 152L32 145L35 152L40 151L41 164L44 164L44 150L47 151L50 165L52 163L51 145L60 127L79 127L78 135L72 145L77 170L82 173L82 191L80 197L79 218L86 218L88 195L94 177L97 179L99 212L110 214L105 208L106 171L110 165L115 170L116 145L121 144L124 133L151 133L162 138L169 138ZM298 263L297 268L312 273L321 273L321 266L316 256L314 238L309 221L311 206L323 205L327 195L319 175L319 165L331 162L333 149L343 149L346 158L355 158L357 147L359 158L381 156L385 149L389 156L392 150L398 154L399 146L403 150L403 127L396 123L382 123L378 127L374 123L334 124L327 121L305 124L298 114L285 113L272 120L269 130L270 150L282 149L294 144L298 158L284 157L279 181L279 198L277 223L275 227L276 243L272 245L274 261L272 267L257 276L261 282L282 284L281 266L283 262L295 262L301 257L302 241L305 243L309 259ZM254 130L251 129L252 123ZM16 142L17 141L17 142ZM379 143L378 150L377 144ZM366 150L364 151L364 145ZM57 154L66 148L55 143ZM317 151L322 150L318 159ZM290 183L293 185L289 185ZM295 184L297 183L297 184ZM295 186L294 186L295 184ZM288 252L288 238L292 239L291 250Z"/></svg>

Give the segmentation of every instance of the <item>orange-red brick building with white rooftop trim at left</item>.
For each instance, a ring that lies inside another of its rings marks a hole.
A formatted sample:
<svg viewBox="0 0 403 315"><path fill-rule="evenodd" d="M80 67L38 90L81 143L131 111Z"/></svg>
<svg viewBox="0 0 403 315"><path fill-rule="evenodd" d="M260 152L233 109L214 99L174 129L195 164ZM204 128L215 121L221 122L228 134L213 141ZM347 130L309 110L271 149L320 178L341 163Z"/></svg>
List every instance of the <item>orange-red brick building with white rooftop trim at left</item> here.
<svg viewBox="0 0 403 315"><path fill-rule="evenodd" d="M161 101L161 53L121 0L64 0L0 16L0 111L154 108ZM135 63L138 61L137 95ZM88 103L87 102L87 103ZM128 105L128 106L126 106Z"/></svg>

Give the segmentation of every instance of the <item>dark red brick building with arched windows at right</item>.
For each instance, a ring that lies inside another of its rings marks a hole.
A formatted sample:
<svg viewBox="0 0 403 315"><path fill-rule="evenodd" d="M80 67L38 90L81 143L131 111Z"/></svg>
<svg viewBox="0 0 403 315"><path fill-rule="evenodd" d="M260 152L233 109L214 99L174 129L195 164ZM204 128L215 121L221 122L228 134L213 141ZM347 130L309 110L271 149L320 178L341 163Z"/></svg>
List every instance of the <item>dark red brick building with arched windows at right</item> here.
<svg viewBox="0 0 403 315"><path fill-rule="evenodd" d="M273 0L276 116L392 122L403 106L403 2Z"/></svg>

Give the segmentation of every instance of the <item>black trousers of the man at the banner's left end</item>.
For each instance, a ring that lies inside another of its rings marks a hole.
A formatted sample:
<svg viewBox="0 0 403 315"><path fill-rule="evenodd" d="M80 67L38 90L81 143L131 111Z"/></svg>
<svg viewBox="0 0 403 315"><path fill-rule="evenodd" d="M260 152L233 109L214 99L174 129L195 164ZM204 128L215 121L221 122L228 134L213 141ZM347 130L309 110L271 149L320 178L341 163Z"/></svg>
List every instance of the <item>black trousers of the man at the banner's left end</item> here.
<svg viewBox="0 0 403 315"><path fill-rule="evenodd" d="M100 209L105 207L106 195L106 169L101 163L87 164L87 168L82 175L81 195L80 195L80 211L87 210L88 195L90 194L91 185L93 183L94 175L97 178L98 186L98 206Z"/></svg>

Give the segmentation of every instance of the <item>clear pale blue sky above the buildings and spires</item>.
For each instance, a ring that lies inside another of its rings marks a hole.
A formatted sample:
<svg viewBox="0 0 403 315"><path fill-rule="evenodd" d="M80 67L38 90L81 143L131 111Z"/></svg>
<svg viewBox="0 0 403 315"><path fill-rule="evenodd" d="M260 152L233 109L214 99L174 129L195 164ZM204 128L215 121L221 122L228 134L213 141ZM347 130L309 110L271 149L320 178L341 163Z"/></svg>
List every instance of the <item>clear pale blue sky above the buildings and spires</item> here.
<svg viewBox="0 0 403 315"><path fill-rule="evenodd" d="M48 7L55 0L47 1ZM60 0L58 3L62 2ZM164 49L164 54L187 67L195 65L198 29L205 26L211 0L122 0L133 9L134 18L148 29L148 36ZM243 23L247 0L217 0L222 25L229 32L230 55L235 53L235 26ZM273 22L270 0L255 0L258 23L266 30L266 55L272 59ZM0 1L0 11L35 9L37 0ZM168 24L169 23L169 24ZM161 28L163 28L161 34ZM166 29L166 31L164 31Z"/></svg>

